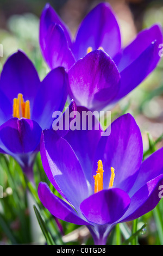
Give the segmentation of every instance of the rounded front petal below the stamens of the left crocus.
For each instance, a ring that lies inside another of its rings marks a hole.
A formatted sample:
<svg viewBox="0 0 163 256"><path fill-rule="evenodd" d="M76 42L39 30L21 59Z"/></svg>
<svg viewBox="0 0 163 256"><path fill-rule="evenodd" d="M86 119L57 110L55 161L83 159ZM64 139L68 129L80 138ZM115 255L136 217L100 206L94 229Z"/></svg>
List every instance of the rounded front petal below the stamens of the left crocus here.
<svg viewBox="0 0 163 256"><path fill-rule="evenodd" d="M0 148L15 157L21 165L27 161L26 155L38 149L40 137L41 127L29 119L12 118L0 126Z"/></svg>

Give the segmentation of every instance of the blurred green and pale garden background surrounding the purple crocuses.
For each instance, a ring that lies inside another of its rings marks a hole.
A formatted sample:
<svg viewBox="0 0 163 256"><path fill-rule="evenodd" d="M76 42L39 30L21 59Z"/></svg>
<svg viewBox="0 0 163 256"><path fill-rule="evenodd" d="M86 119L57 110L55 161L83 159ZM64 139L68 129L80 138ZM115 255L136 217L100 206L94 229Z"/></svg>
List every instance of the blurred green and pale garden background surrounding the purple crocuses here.
<svg viewBox="0 0 163 256"><path fill-rule="evenodd" d="M110 3L121 28L123 46L129 44L139 31L151 26L153 23L160 23L163 26L162 0L53 0L48 2L57 11L61 19L64 20L73 35L75 35L84 16L96 4L99 2ZM45 77L48 68L43 61L39 47L39 17L46 3L45 0L0 1L0 44L3 45L3 57L0 57L0 70L2 70L3 64L10 54L21 49L33 61L41 80ZM112 120L127 112L134 115L137 124L140 126L146 156L148 153L151 154L156 148L163 146L162 139L159 139L156 147L151 146L163 133L163 58L154 72L112 109ZM149 132L149 135L147 132ZM152 138L152 140L150 141L149 138ZM149 152L148 149L150 147L151 151ZM34 169L36 186L40 180L47 181L39 155ZM5 199L1 200L0 204L0 244L45 242L38 225L36 225L34 211L30 209L32 208L32 199L29 200L28 193L24 194L24 190L27 190L28 186L22 171L11 157L6 158L2 155L0 156L1 184L4 185ZM35 193L35 201L37 202L35 188L33 193ZM28 202L30 202L30 207ZM138 229L142 227L143 223L147 223L147 232L143 229L139 234L139 242L142 245L163 244L163 222L160 222L162 210L163 206L160 202L159 207L155 211L149 212L149 214L139 219ZM30 214L33 212L32 217L29 215L29 212ZM58 228L56 228L54 218L47 211L43 212L43 216L48 222L49 229L53 230L53 235L57 237L57 241L60 243L60 237L58 236L58 231L56 231ZM64 237L64 242L69 244L92 243L87 229L78 229L78 226L65 222L61 222L61 224L64 235L75 230L70 235ZM132 223L121 227L122 241L130 234L131 228ZM109 243L118 243L118 232L118 229L112 232L112 235L109 237ZM88 237L89 240L87 240Z"/></svg>

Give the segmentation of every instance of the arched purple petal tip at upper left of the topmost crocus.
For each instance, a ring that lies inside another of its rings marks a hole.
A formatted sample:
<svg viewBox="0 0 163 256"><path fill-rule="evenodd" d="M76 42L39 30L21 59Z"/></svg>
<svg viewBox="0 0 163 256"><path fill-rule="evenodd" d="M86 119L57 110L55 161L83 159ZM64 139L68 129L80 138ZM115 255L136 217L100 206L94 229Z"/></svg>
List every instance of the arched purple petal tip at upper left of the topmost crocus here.
<svg viewBox="0 0 163 256"><path fill-rule="evenodd" d="M60 19L60 17L55 13L54 9L51 7L50 4L46 4L45 8L42 11L40 17L40 46L43 50L46 44L46 36L48 33L48 28L51 26L52 23L57 23L64 29L64 33L66 35L66 39L68 44L71 46L71 36L68 28L66 27L65 23Z"/></svg>

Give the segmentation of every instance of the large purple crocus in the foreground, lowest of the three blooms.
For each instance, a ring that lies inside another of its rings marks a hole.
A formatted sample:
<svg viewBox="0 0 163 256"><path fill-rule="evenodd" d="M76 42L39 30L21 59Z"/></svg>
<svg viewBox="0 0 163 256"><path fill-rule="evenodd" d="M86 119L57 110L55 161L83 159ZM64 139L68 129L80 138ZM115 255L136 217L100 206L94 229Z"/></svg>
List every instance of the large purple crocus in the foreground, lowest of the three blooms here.
<svg viewBox="0 0 163 256"><path fill-rule="evenodd" d="M142 162L142 137L130 114L111 124L108 137L97 130L76 130L61 138L44 130L42 164L64 200L44 182L38 187L39 198L52 215L86 225L95 244L104 245L117 223L139 218L158 204L162 154L163 148Z"/></svg>

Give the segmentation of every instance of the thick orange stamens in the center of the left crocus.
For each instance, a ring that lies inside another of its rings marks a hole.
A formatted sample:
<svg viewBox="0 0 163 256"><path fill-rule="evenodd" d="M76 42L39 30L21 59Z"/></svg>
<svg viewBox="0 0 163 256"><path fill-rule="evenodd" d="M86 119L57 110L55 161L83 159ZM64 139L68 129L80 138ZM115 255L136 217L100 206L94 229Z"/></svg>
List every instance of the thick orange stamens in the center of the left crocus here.
<svg viewBox="0 0 163 256"><path fill-rule="evenodd" d="M30 102L24 102L23 95L19 93L13 100L13 117L30 119Z"/></svg>

